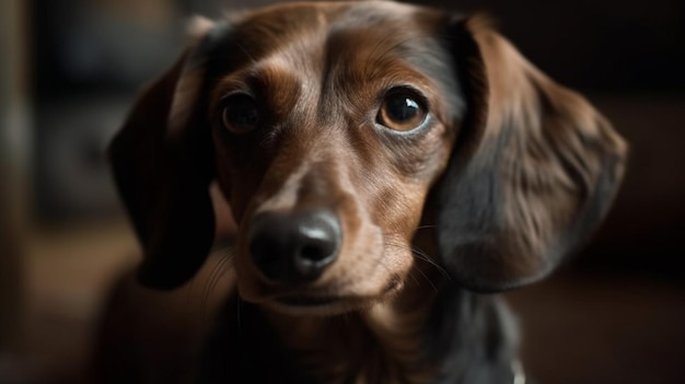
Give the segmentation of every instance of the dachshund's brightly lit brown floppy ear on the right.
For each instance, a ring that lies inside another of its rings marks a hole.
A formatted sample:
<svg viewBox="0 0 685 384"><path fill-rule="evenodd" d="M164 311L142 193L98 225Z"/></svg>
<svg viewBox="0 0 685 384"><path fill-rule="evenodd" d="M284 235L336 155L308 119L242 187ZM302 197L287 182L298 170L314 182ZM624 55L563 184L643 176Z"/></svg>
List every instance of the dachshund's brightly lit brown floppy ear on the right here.
<svg viewBox="0 0 685 384"><path fill-rule="evenodd" d="M546 276L589 237L627 144L486 20L455 22L451 36L469 110L439 185L439 254L464 287L506 290Z"/></svg>

